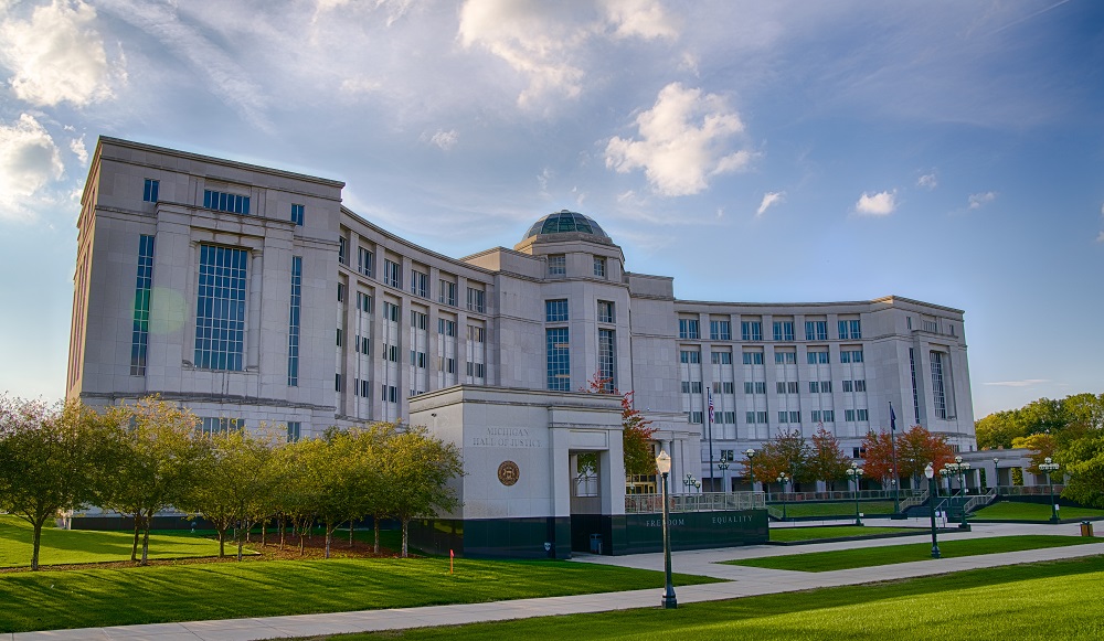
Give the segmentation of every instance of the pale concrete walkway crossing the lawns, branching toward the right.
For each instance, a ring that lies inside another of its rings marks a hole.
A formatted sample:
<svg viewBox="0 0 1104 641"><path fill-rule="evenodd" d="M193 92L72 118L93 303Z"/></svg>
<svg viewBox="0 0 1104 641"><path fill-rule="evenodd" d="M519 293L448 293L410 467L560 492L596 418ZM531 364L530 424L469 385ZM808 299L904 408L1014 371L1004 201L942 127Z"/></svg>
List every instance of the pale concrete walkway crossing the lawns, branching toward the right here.
<svg viewBox="0 0 1104 641"><path fill-rule="evenodd" d="M916 521L870 522L871 530L878 526L919 526ZM979 524L972 533L941 534L940 541L955 538L977 538L985 536L1008 536L1017 534L1061 534L1074 536L1079 527L1073 525L1021 525ZM858 585L880 580L938 575L949 571L1015 565L1037 560L1053 560L1104 554L1104 542L1072 547L1051 547L1006 554L989 554L962 558L944 558L903 563L827 573L799 573L774 570L733 565L718 565L721 560L755 558L786 554L802 554L854 547L901 545L903 543L930 541L926 537L867 539L857 542L821 543L800 546L757 545L723 549L678 552L672 557L676 571L725 579L725 583L686 586L676 590L680 603L714 601L774 592L786 592L819 587ZM619 565L646 569L664 567L662 554L640 554L633 556L586 556L578 563ZM44 640L126 640L126 641L252 641L286 637L312 637L344 632L374 630L397 630L425 626L454 626L479 621L501 621L625 610L630 608L658 607L662 586L625 592L580 595L573 597L549 597L540 599L517 599L490 603L457 606L434 606L391 610L363 610L358 612L333 612L327 615L298 615L289 617L266 617L257 619L227 619L219 621L194 621L187 623L157 623L149 626L119 626L112 628L85 628L78 630L51 630L2 634L2 641Z"/></svg>

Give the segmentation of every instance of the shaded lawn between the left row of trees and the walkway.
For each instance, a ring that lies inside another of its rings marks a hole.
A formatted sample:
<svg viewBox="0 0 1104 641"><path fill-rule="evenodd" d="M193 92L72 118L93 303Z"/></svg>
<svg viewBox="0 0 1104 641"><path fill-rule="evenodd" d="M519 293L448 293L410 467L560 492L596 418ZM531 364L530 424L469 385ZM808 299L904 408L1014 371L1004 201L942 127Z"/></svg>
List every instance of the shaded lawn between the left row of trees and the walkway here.
<svg viewBox="0 0 1104 641"><path fill-rule="evenodd" d="M677 575L679 585L715 579ZM0 575L0 632L408 608L664 587L661 571L567 562L369 558Z"/></svg>

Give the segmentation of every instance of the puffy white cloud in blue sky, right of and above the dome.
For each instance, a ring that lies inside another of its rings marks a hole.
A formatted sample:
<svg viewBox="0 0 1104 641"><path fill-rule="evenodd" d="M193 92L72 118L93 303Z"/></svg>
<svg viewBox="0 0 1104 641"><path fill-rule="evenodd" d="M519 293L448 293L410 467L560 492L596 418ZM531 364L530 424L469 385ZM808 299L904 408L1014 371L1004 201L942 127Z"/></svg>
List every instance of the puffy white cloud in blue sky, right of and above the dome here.
<svg viewBox="0 0 1104 641"><path fill-rule="evenodd" d="M614 136L606 145L606 167L617 173L644 169L651 189L668 196L690 195L709 179L745 169L749 150L731 151L730 140L744 131L724 99L671 83L651 109L636 118L638 140Z"/></svg>

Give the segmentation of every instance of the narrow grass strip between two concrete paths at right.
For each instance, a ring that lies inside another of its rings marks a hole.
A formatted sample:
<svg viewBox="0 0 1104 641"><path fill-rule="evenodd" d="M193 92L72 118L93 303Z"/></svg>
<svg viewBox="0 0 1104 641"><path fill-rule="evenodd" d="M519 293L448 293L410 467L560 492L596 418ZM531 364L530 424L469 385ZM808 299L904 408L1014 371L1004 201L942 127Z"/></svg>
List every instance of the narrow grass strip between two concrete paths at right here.
<svg viewBox="0 0 1104 641"><path fill-rule="evenodd" d="M1098 543L1098 538L1080 538L1074 536L994 536L990 538L966 538L940 542L940 552L944 558L958 556L975 556L980 554L997 554L1001 552L1019 552L1040 547L1062 547ZM837 549L832 552L811 552L808 554L787 554L764 558L746 558L726 560L729 565L749 567L765 567L771 569L788 569L795 571L832 571L874 565L891 565L912 560L932 558L932 543L910 543L906 545L889 545L884 547L862 547L857 549Z"/></svg>

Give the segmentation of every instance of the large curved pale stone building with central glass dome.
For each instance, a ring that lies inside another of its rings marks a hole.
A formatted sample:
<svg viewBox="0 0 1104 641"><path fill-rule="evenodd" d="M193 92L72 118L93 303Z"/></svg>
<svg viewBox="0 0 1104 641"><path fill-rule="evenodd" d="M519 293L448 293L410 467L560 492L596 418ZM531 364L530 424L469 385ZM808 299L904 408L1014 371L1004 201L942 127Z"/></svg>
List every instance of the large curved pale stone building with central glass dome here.
<svg viewBox="0 0 1104 641"><path fill-rule="evenodd" d="M100 138L77 223L67 396L160 394L204 430L266 423L297 439L406 420L412 398L455 386L544 397L597 374L635 392L673 479L714 490L746 481L739 467L710 480L711 459L779 429L822 424L858 457L891 403L900 425L976 447L960 310L679 300L670 277L626 270L614 239L566 210L512 249L450 258L342 206L342 188Z"/></svg>

